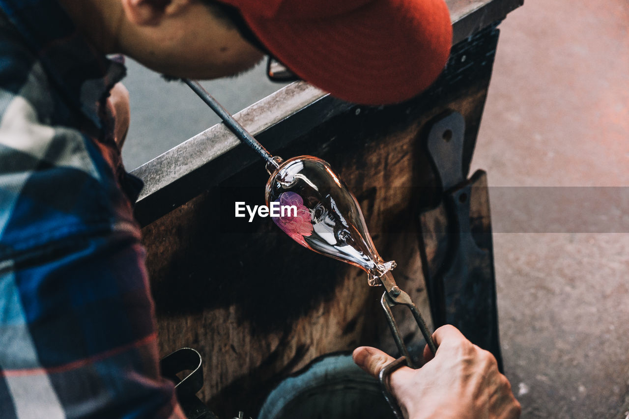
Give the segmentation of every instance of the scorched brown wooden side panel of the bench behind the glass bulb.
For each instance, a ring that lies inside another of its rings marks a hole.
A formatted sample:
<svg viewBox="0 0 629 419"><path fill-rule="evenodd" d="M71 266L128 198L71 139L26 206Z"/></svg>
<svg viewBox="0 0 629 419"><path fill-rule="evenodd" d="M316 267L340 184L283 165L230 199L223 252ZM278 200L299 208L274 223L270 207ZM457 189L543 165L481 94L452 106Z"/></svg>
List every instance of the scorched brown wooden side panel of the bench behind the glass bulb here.
<svg viewBox="0 0 629 419"><path fill-rule="evenodd" d="M490 28L457 45L420 98L320 115L319 125L277 150L331 164L357 196L382 257L398 262L399 286L428 320L416 223L438 182L420 138L435 115L458 111L469 167L497 38ZM291 129L291 121L282 123ZM358 345L394 352L379 308L382 289L367 286L364 272L300 247L269 218L234 218L235 201L264 203L267 177L254 165L220 184L207 179L203 193L143 228L160 350L201 352L200 396L221 417L255 415L272 386L321 355ZM406 340L420 347L410 316L401 323Z"/></svg>

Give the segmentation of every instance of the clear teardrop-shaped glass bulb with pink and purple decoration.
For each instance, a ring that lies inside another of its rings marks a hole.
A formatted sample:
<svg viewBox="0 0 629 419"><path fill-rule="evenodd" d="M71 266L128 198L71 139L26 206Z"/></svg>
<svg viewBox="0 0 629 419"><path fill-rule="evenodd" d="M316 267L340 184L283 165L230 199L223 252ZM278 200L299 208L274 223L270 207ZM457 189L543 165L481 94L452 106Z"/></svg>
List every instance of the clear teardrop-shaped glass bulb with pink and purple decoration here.
<svg viewBox="0 0 629 419"><path fill-rule="evenodd" d="M273 221L299 244L364 269L369 285L379 285L396 263L382 260L356 198L330 165L312 156L276 161L281 164L271 167L265 197L267 205L284 208Z"/></svg>

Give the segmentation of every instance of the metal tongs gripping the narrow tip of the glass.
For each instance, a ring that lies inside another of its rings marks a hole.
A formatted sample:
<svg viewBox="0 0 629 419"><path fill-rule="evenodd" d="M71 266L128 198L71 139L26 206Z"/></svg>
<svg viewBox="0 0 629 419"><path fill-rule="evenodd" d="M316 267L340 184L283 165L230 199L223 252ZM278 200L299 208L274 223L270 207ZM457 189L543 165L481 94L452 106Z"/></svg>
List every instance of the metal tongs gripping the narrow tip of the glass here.
<svg viewBox="0 0 629 419"><path fill-rule="evenodd" d="M411 313L413 313L413 317L415 318L415 321L418 327L420 328L421 335L423 335L424 339L426 340L426 344L428 344L428 348L431 350L433 354L437 353L437 345L435 345L435 341L432 339L432 333L428 332L428 327L426 327L426 322L421 316L421 313L418 310L417 306L415 305L415 303L413 303L413 300L411 299L411 297L398 287L395 280L393 279L391 272L390 271L386 272L379 279L380 279L380 282L382 283L382 286L384 286L384 289L386 290L384 291L384 293L382 294L382 298L380 299L380 303L382 304L382 310L384 310L384 315L387 318L387 323L389 323L391 334L393 335L393 339L395 340L395 343L398 346L399 353L402 356L394 360L393 362L387 364L386 366L384 366L384 368L380 370L380 374L378 378L380 381L380 387L382 389L382 395L386 399L387 403L389 403L389 406L391 406L391 409L393 410L393 413L396 415L396 418L403 419L404 416L402 415L402 411L399 408L399 405L396 402L395 398L389 391L389 386L388 386L389 377L394 371L396 371L397 369L399 369L400 367L404 365L411 367L413 369L417 369L418 366L416 366L415 362L413 362L413 359L411 358L411 355L408 352L408 348L404 344L404 340L402 339L399 333L398 323L396 322L393 316L391 307L393 306L408 307L408 309L411 310Z"/></svg>

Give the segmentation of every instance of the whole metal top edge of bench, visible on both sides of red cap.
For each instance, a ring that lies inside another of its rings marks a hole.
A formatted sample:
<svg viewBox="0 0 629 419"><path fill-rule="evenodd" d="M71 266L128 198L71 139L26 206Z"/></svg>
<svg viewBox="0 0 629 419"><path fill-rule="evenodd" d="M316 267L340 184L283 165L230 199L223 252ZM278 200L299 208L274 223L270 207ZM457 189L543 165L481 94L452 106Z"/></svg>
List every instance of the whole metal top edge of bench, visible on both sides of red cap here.
<svg viewBox="0 0 629 419"><path fill-rule="evenodd" d="M447 4L454 22L453 43L458 43L487 25L503 20L506 14L521 6L523 0L447 0ZM197 99L191 94L191 100ZM199 103L199 106L203 105ZM302 117L294 118L296 123L292 126L306 133L321 123L321 118L309 121L308 116L325 115L327 119L352 106L355 105L331 98L305 82L295 82L234 116L253 136L264 135L263 144L273 152L291 140L273 130L281 121L300 114ZM223 123L211 126L131 171L145 183L136 202L136 217L141 225L147 225L256 161L261 162Z"/></svg>

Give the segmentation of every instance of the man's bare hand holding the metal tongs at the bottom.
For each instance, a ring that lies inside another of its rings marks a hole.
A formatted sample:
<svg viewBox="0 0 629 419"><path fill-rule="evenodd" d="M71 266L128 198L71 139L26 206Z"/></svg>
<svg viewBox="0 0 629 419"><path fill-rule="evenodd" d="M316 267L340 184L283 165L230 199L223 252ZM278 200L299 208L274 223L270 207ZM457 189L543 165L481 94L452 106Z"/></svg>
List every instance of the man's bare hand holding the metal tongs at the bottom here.
<svg viewBox="0 0 629 419"><path fill-rule="evenodd" d="M407 419L512 419L520 417L520 403L511 384L498 371L494 356L467 340L457 328L445 325L433 339L435 357L426 346L425 366L401 367L391 374L389 388ZM360 347L353 360L377 377L393 360L381 350Z"/></svg>

